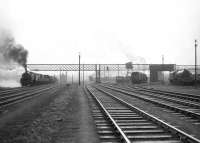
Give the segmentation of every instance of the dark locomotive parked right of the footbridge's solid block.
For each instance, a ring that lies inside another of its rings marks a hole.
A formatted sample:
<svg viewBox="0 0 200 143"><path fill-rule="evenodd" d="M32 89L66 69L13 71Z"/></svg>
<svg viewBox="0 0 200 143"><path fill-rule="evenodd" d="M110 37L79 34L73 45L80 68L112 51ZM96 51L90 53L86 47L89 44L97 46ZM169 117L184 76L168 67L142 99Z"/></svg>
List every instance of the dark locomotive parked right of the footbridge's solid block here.
<svg viewBox="0 0 200 143"><path fill-rule="evenodd" d="M177 70L169 74L169 81L172 84L192 85L194 84L194 76L187 70Z"/></svg>

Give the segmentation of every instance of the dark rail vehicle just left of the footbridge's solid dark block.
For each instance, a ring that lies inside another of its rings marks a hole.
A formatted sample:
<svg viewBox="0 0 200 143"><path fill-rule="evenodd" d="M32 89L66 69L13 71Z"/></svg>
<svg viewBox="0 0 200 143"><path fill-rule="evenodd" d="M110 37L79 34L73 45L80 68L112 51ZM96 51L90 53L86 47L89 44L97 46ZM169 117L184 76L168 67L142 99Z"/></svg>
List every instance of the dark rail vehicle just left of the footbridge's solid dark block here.
<svg viewBox="0 0 200 143"><path fill-rule="evenodd" d="M131 82L133 84L137 83L146 83L147 82L147 75L142 72L132 72L131 73Z"/></svg>

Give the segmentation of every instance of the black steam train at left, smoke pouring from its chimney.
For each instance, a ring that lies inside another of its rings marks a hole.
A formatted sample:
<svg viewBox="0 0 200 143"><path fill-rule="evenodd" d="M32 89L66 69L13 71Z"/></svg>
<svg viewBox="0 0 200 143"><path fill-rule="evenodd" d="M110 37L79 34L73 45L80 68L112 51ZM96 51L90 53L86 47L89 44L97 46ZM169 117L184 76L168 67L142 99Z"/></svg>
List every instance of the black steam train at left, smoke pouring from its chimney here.
<svg viewBox="0 0 200 143"><path fill-rule="evenodd" d="M49 83L54 83L56 81L57 79L54 76L38 74L29 71L25 71L20 79L20 83L22 86L49 84Z"/></svg>

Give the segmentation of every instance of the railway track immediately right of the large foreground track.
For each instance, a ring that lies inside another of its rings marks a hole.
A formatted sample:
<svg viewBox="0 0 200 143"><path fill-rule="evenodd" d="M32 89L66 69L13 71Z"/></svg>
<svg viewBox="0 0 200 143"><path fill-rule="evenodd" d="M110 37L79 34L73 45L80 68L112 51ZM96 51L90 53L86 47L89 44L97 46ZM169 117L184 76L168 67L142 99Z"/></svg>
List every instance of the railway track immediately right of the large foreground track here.
<svg viewBox="0 0 200 143"><path fill-rule="evenodd" d="M187 118L193 124L200 124L200 107L199 103L193 104L186 101L179 101L178 99L174 100L172 98L161 97L154 94L144 93L142 91L122 88L119 86L108 86L108 85L100 85L104 88L111 89L113 91L120 92L125 95L129 95L134 98L138 98L147 102L151 102L160 107L164 107L166 109L172 110L173 114L180 114L180 117ZM181 99L182 100L182 99Z"/></svg>

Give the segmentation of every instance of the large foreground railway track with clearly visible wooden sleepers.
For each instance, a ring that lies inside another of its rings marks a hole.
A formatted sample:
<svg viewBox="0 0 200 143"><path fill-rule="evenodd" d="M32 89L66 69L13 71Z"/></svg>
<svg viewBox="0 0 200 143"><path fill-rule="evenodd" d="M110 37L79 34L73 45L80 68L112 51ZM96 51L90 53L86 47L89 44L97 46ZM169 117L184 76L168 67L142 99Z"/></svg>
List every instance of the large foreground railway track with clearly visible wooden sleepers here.
<svg viewBox="0 0 200 143"><path fill-rule="evenodd" d="M102 143L200 143L106 91L88 86L89 101Z"/></svg>

